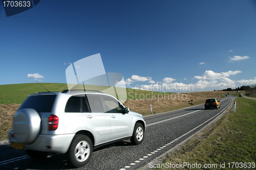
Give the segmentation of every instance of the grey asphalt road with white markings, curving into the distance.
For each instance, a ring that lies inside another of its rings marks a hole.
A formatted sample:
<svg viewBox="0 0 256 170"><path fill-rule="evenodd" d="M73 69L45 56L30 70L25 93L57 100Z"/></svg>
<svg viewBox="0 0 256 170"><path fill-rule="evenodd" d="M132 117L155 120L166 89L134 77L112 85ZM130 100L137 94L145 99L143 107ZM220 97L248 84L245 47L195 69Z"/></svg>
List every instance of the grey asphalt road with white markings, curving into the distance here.
<svg viewBox="0 0 256 170"><path fill-rule="evenodd" d="M204 110L197 105L181 110L145 116L145 139L140 145L130 140L117 142L93 152L90 162L77 169L137 169L174 148L216 118L230 103L232 96L220 99L220 109ZM12 149L8 143L0 145L0 169L70 169L63 154L34 160L25 152Z"/></svg>

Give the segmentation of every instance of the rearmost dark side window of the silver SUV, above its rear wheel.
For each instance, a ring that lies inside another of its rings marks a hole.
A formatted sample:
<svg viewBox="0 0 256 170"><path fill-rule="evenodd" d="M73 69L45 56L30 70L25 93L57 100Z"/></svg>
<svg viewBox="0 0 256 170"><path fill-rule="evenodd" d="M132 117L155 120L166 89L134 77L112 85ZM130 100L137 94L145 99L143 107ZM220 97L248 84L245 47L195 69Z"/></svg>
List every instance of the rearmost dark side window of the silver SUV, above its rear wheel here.
<svg viewBox="0 0 256 170"><path fill-rule="evenodd" d="M71 96L67 102L65 112L90 112L86 96Z"/></svg>

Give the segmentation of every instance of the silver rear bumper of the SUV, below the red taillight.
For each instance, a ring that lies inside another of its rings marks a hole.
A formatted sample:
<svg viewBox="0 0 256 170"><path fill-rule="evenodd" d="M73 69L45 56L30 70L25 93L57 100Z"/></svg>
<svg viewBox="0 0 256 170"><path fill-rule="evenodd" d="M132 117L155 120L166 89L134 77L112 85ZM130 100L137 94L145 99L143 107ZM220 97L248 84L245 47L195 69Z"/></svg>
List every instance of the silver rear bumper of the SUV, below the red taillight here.
<svg viewBox="0 0 256 170"><path fill-rule="evenodd" d="M15 137L11 137L12 131L8 132L8 138L10 143L17 142ZM64 154L68 151L70 143L73 140L75 134L63 134L63 135L38 135L37 139L32 144L25 144L24 148L33 151L53 152Z"/></svg>

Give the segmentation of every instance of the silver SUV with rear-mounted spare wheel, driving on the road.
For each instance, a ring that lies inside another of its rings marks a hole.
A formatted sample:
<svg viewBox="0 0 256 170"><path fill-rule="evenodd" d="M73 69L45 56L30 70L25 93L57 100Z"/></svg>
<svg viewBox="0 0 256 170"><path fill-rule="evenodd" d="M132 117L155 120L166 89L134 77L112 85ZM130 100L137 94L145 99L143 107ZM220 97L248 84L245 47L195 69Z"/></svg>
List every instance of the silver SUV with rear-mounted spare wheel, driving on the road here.
<svg viewBox="0 0 256 170"><path fill-rule="evenodd" d="M95 148L124 139L144 139L142 115L100 92L31 94L13 116L8 138L13 148L33 158L67 153L75 167L87 164Z"/></svg>

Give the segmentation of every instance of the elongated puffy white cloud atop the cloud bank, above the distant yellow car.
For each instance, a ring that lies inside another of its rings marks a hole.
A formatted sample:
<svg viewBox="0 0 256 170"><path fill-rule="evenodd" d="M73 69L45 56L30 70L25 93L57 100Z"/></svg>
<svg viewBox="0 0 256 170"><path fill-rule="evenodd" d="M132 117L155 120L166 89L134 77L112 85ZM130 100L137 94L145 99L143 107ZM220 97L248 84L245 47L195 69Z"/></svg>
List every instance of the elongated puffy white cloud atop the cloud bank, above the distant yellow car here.
<svg viewBox="0 0 256 170"><path fill-rule="evenodd" d="M224 79L229 77L230 75L236 75L242 71L236 70L236 71L227 71L227 72L214 72L212 70L206 70L203 74L203 76L195 76L194 78L199 80L217 80L217 79Z"/></svg>

